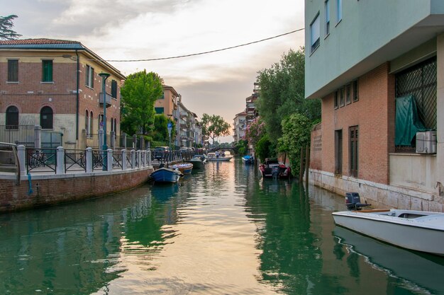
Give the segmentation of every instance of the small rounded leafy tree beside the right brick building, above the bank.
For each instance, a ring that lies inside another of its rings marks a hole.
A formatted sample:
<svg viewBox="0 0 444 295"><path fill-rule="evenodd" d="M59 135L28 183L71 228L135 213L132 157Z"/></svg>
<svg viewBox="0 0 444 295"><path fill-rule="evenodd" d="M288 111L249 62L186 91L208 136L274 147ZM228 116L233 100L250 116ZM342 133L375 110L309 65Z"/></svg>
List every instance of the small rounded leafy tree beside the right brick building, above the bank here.
<svg viewBox="0 0 444 295"><path fill-rule="evenodd" d="M310 146L312 126L313 122L309 118L298 113L282 120L282 137L278 141L279 151L288 154L294 175L299 173L301 148Z"/></svg>

